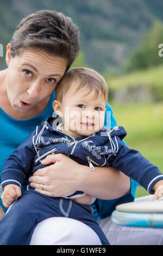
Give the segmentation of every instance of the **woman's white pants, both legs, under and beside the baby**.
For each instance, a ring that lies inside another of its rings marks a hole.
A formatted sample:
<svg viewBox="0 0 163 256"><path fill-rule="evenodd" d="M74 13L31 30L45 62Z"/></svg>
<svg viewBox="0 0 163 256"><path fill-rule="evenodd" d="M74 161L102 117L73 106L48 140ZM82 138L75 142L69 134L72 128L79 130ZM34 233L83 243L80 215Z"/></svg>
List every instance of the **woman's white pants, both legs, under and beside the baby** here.
<svg viewBox="0 0 163 256"><path fill-rule="evenodd" d="M152 196L136 200L152 200ZM163 229L116 225L111 218L98 221L111 245L163 245ZM82 222L54 217L40 222L30 245L101 245L95 231Z"/></svg>

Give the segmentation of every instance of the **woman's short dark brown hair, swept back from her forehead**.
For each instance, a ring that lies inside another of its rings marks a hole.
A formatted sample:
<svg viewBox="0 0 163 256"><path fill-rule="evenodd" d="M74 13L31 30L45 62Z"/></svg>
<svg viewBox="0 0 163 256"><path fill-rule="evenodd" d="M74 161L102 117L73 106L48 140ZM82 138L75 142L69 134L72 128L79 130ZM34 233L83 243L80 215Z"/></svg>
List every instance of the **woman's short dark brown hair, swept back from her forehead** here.
<svg viewBox="0 0 163 256"><path fill-rule="evenodd" d="M39 48L67 59L67 69L79 52L79 29L70 17L52 10L36 11L17 26L10 41L11 56L27 48Z"/></svg>

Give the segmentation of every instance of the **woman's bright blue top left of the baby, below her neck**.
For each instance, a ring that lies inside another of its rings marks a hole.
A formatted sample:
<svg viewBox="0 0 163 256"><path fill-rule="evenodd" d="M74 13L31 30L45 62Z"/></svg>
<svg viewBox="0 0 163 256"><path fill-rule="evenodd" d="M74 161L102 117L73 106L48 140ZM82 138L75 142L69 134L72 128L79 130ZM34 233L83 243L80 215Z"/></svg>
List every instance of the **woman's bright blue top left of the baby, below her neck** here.
<svg viewBox="0 0 163 256"><path fill-rule="evenodd" d="M0 108L0 174L2 173L5 160L11 155L11 153L22 144L29 134L36 129L37 125L40 125L43 120L47 117L51 117L53 114L53 101L55 97L55 92L51 95L48 105L40 115L37 115L34 118L17 120L10 117L7 113ZM1 181L1 176L0 176ZM25 187L25 185L24 185ZM0 199L0 205L6 211L7 208L4 208L2 199Z"/></svg>

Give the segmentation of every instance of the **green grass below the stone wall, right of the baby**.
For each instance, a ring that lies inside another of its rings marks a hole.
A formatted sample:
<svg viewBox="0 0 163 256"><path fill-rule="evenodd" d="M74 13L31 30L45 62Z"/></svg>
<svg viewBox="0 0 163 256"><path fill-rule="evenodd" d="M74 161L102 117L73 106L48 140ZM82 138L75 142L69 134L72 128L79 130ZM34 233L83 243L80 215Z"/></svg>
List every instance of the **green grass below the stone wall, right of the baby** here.
<svg viewBox="0 0 163 256"><path fill-rule="evenodd" d="M163 173L163 103L110 105L117 124L127 131L128 146L141 151ZM147 194L144 188L137 188L136 197Z"/></svg>

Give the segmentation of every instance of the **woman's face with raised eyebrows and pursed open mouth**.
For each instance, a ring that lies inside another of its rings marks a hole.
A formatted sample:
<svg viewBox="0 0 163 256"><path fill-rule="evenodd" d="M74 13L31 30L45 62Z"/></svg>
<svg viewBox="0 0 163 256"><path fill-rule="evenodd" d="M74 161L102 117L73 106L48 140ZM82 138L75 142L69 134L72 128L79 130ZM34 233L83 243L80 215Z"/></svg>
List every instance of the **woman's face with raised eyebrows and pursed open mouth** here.
<svg viewBox="0 0 163 256"><path fill-rule="evenodd" d="M7 94L12 108L26 112L47 99L64 75L67 62L39 50L24 50L14 58L6 57Z"/></svg>

